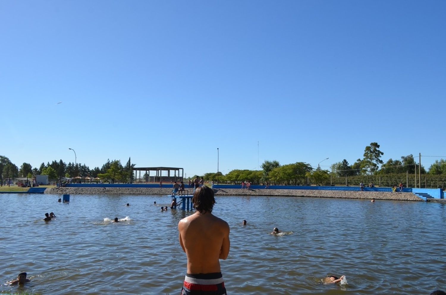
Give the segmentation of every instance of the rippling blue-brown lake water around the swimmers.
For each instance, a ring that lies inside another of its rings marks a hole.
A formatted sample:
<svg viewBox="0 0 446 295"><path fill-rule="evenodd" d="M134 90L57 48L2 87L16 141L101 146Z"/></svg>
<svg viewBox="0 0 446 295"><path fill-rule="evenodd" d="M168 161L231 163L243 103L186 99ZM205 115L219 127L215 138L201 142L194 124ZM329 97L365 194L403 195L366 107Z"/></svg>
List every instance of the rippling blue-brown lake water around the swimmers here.
<svg viewBox="0 0 446 295"><path fill-rule="evenodd" d="M176 294L186 273L166 196L0 194L0 293ZM446 207L408 201L217 197L231 228L228 294L429 294L446 290ZM153 201L157 205L153 205ZM130 203L130 206L125 206ZM44 213L57 216L43 221ZM124 218L114 223L104 218ZM243 226L243 219L248 225ZM274 227L283 236L269 233ZM6 286L25 270L30 283ZM326 275L343 285L323 285Z"/></svg>

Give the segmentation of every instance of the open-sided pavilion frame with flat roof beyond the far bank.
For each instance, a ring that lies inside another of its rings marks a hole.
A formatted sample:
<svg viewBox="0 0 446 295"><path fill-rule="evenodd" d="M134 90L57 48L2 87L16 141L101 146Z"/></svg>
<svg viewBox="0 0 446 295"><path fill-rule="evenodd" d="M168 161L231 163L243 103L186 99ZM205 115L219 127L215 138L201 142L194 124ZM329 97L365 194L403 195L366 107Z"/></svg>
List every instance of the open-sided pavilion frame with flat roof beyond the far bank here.
<svg viewBox="0 0 446 295"><path fill-rule="evenodd" d="M135 179L142 182L173 182L183 181L184 178L184 169L177 167L134 167L133 171L135 171ZM145 179L141 179L141 171Z"/></svg>

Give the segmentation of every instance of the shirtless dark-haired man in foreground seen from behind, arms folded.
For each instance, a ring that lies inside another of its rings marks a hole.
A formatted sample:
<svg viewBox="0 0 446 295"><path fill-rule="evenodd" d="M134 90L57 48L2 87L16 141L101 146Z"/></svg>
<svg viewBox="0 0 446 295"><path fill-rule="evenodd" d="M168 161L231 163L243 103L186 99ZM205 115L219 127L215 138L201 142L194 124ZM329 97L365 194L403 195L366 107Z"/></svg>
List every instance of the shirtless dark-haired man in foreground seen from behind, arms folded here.
<svg viewBox="0 0 446 295"><path fill-rule="evenodd" d="M229 254L229 225L212 215L214 191L201 186L192 203L196 212L178 222L180 244L187 256L182 295L226 295L219 259Z"/></svg>

